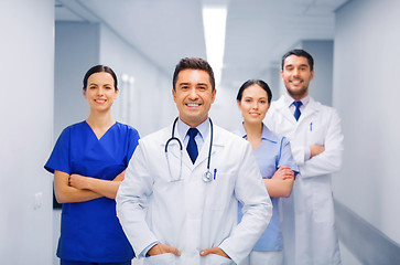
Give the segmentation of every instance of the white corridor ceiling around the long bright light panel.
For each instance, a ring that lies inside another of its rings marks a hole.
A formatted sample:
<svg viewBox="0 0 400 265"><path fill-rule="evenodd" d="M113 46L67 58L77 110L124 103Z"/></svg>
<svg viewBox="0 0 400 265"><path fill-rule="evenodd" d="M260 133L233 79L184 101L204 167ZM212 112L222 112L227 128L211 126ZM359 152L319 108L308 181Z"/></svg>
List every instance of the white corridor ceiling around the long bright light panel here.
<svg viewBox="0 0 400 265"><path fill-rule="evenodd" d="M57 21L100 22L166 73L183 56L206 59L202 8L227 4L221 85L237 86L279 65L301 40L332 40L348 0L55 0Z"/></svg>

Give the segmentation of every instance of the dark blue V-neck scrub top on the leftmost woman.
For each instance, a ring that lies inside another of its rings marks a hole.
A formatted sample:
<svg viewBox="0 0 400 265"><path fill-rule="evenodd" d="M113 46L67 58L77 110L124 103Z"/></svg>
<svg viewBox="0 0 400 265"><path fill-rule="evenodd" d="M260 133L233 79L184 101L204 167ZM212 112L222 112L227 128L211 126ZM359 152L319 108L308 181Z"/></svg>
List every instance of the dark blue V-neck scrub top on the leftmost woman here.
<svg viewBox="0 0 400 265"><path fill-rule="evenodd" d="M138 131L120 123L100 139L86 121L74 124L63 130L44 168L52 173L58 170L112 180L128 167L138 140ZM96 263L132 259L133 250L117 218L115 200L102 197L64 203L57 256Z"/></svg>

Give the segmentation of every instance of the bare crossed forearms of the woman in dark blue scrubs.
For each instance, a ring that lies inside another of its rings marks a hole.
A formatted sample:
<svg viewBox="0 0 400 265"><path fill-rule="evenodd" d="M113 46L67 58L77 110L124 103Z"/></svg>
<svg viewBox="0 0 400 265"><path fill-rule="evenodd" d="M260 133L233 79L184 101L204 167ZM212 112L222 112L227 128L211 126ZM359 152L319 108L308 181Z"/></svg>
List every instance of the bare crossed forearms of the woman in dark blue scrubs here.
<svg viewBox="0 0 400 265"><path fill-rule="evenodd" d="M54 171L54 191L58 203L84 202L107 197L115 199L125 171L113 180L101 180L80 174Z"/></svg>

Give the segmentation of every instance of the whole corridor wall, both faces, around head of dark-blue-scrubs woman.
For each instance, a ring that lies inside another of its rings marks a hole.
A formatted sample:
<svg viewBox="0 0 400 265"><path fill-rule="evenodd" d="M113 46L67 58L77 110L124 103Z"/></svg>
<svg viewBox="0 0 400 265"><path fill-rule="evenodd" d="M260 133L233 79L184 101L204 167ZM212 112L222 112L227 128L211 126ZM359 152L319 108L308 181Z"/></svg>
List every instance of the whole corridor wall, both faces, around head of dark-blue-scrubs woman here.
<svg viewBox="0 0 400 265"><path fill-rule="evenodd" d="M133 126L144 136L175 116L171 93L174 65L167 73L101 22L58 21L55 28L55 137L67 125L87 117L82 80L96 64L110 66L118 76L120 92L112 107L117 120Z"/></svg>

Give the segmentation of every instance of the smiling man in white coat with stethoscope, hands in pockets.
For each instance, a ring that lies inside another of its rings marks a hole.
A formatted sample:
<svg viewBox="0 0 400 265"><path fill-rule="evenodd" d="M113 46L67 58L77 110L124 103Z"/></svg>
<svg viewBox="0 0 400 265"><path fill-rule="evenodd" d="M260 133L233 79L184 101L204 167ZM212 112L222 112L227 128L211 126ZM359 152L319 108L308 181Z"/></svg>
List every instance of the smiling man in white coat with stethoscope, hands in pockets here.
<svg viewBox="0 0 400 265"><path fill-rule="evenodd" d="M208 117L216 89L206 61L181 60L172 95L179 117L139 141L118 190L122 229L143 264L239 263L272 214L251 147Z"/></svg>

